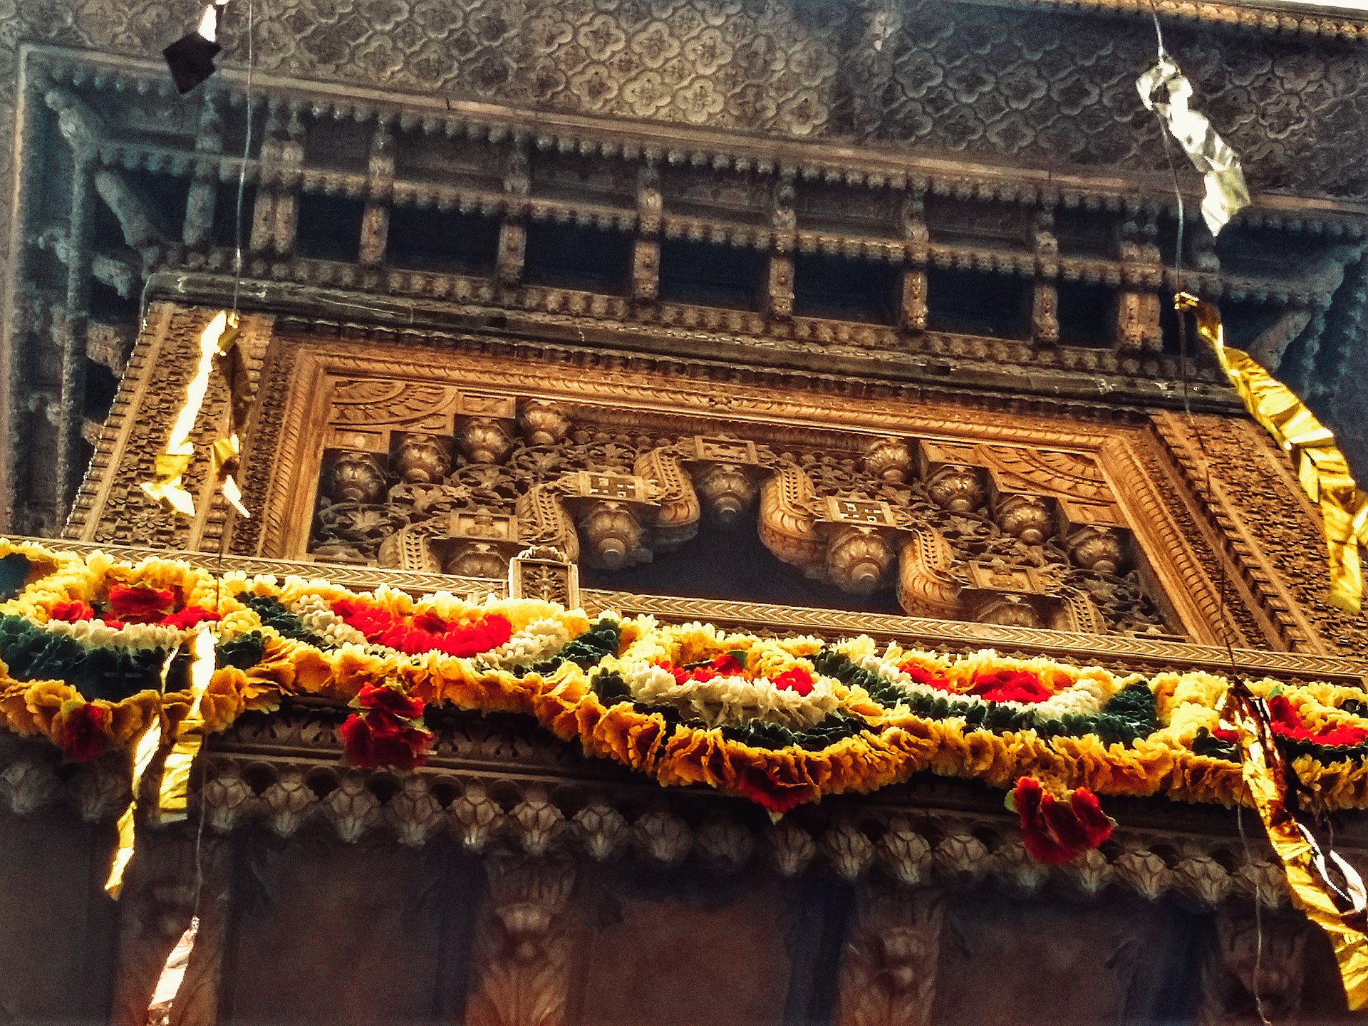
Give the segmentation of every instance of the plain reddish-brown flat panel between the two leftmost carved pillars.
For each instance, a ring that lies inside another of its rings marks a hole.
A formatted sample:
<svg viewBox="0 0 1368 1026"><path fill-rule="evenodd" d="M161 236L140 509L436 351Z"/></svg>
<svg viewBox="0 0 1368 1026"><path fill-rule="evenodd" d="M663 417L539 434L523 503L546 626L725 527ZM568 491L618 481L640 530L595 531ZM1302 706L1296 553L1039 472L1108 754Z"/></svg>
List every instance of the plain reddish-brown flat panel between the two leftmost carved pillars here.
<svg viewBox="0 0 1368 1026"><path fill-rule="evenodd" d="M365 788L334 800L357 832L378 815ZM241 858L223 1019L450 1021L471 971L462 938L479 906L473 873L440 852L305 837L285 845L269 833Z"/></svg>

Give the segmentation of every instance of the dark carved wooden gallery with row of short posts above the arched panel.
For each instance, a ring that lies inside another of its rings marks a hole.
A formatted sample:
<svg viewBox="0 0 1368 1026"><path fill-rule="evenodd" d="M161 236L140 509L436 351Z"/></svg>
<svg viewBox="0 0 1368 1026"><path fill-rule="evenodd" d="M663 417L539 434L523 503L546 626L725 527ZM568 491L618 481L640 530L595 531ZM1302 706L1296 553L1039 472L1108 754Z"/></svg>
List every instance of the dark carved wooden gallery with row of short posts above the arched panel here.
<svg viewBox="0 0 1368 1026"><path fill-rule="evenodd" d="M955 25L944 53L978 23ZM1000 29L974 31L986 36L964 60L986 64ZM1062 45L1022 52L1023 89ZM8 494L27 529L51 532L66 514L138 300L222 298L239 238L239 298L305 317L482 324L1104 402L1223 401L1200 363L1182 380L1163 309L1179 274L1172 197L1145 160L1118 176L1082 156L1038 166L1019 146L532 118L259 74L244 164L245 83L233 75L179 98L150 64L31 51L26 68L8 402L11 436L27 443L10 450ZM1066 103L1104 94L1075 73L1083 93ZM1048 77L1038 88L1051 92ZM984 78L973 92L1003 89ZM1041 123L1082 118L1047 118L1036 92L1022 111ZM1181 271L1222 302L1237 341L1319 402L1361 327L1363 220L1335 189L1286 185L1260 193L1220 248L1190 230ZM1352 454L1354 438L1350 425Z"/></svg>

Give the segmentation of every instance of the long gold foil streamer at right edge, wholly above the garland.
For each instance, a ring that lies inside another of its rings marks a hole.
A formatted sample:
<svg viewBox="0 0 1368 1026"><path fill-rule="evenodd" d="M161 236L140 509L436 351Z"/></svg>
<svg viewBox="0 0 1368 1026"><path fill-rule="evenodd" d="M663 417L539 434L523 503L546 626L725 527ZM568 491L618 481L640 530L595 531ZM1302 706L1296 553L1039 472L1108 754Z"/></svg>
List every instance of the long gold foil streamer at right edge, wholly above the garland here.
<svg viewBox="0 0 1368 1026"><path fill-rule="evenodd" d="M1320 505L1330 555L1330 601L1357 613L1364 590L1358 546L1368 544L1368 495L1350 476L1349 462L1335 446L1335 435L1249 353L1226 345L1215 306L1189 293L1178 293L1174 309L1193 312L1197 334L1215 350L1220 369L1245 409L1291 456L1297 480L1311 501Z"/></svg>

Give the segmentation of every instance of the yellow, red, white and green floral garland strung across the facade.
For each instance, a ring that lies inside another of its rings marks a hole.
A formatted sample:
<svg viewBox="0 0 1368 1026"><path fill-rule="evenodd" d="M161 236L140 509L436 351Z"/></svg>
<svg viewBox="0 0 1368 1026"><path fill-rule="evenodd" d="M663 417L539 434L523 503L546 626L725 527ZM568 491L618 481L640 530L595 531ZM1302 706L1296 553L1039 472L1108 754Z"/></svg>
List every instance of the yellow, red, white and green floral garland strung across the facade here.
<svg viewBox="0 0 1368 1026"><path fill-rule="evenodd" d="M1202 672L1122 677L870 637L757 637L610 613L591 622L531 599L356 594L33 543L0 542L0 726L47 736L74 761L129 746L155 717L175 736L190 706L178 650L209 622L207 731L321 695L352 703L343 743L365 766L420 765L432 741L424 711L447 706L529 715L662 785L703 784L774 814L923 770L1004 791L1037 778L1048 793L1026 796L1031 826L1056 848L1101 830L1079 788L1226 804L1244 793L1218 711L1226 681ZM1250 687L1311 793L1368 807L1368 695Z"/></svg>

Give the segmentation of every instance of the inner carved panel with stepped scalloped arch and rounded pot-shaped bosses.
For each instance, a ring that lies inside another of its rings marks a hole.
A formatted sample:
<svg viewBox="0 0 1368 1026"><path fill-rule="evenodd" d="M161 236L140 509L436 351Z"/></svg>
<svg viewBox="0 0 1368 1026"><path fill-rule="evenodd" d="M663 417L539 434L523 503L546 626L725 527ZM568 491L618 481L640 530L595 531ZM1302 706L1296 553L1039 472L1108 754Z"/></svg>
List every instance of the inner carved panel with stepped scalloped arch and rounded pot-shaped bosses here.
<svg viewBox="0 0 1368 1026"><path fill-rule="evenodd" d="M1012 431L997 416L988 438L956 438L947 430L969 419L951 405L917 434L896 404L830 425L834 408L763 389L724 413L650 375L547 378L535 363L468 357L415 372L398 350L286 345L267 386L289 397L283 423L248 460L276 473L253 492L264 517L242 525L239 550L502 577L520 543L551 544L611 570L758 510L781 562L856 594L897 579L910 611L1189 632L1103 469L1109 435ZM936 601L917 583L932 570L908 569L929 566L908 549L928 531L949 539Z"/></svg>

